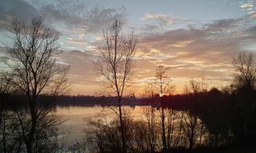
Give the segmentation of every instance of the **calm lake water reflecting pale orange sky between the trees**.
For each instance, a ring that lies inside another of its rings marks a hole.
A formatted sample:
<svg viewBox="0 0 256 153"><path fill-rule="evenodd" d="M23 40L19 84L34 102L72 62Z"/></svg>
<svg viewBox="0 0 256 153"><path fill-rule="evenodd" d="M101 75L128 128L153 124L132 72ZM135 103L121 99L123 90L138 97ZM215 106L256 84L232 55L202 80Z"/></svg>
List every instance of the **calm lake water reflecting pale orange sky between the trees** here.
<svg viewBox="0 0 256 153"><path fill-rule="evenodd" d="M116 109L116 107L112 107ZM114 111L109 107L101 106L72 106L72 107L57 107L57 114L61 116L63 124L61 125L61 131L68 135L68 139L75 141L83 139L85 136L84 131L91 128L87 123L88 118L99 118L99 114L104 114L106 118L115 118ZM141 113L141 106L125 107L129 110L130 114L134 118L139 118Z"/></svg>

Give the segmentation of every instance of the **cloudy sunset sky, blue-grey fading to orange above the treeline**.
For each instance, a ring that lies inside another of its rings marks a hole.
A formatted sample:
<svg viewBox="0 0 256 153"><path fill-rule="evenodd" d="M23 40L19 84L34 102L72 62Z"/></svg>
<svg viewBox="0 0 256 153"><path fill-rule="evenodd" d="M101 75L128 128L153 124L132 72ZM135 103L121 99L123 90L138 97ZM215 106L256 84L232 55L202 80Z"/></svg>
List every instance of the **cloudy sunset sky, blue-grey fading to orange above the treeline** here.
<svg viewBox="0 0 256 153"><path fill-rule="evenodd" d="M44 17L58 31L63 55L70 65L71 95L94 95L100 88L92 61L98 57L102 29L115 19L124 33L139 35L134 92L154 78L157 65L170 67L168 75L183 91L189 80L204 75L209 86L230 83L232 58L256 52L256 4L241 0L0 0L0 55L10 43L7 28L13 18L29 22Z"/></svg>

